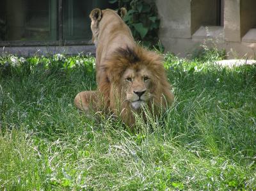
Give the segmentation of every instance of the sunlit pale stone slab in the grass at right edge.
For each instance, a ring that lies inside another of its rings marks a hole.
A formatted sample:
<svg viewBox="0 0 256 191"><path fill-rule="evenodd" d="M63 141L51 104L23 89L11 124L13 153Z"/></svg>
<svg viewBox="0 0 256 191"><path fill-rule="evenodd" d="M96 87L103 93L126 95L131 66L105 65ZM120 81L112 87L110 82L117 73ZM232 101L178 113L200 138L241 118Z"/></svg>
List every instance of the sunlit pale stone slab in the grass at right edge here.
<svg viewBox="0 0 256 191"><path fill-rule="evenodd" d="M235 67L235 66L243 66L243 65L256 65L255 59L223 59L221 61L216 61L217 65L227 66L227 67Z"/></svg>

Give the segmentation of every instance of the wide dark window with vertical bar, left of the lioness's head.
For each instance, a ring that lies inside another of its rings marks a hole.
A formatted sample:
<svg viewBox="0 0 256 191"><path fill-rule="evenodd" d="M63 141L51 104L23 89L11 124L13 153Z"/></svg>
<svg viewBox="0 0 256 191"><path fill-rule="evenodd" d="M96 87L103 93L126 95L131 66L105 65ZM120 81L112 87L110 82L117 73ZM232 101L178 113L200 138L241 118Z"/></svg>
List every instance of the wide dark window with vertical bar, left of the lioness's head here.
<svg viewBox="0 0 256 191"><path fill-rule="evenodd" d="M106 0L1 0L0 45L86 44L93 8Z"/></svg>

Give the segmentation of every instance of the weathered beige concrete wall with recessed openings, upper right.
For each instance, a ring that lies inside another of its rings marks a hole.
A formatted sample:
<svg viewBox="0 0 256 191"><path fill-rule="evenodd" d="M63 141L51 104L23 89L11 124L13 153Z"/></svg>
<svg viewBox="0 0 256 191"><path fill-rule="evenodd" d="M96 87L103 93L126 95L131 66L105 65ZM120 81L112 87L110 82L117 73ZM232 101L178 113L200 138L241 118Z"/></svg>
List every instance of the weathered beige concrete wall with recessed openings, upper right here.
<svg viewBox="0 0 256 191"><path fill-rule="evenodd" d="M256 0L221 3L223 15L218 16L217 0L156 0L161 19L159 38L165 50L188 57L210 39L216 47L226 50L228 58L255 58L256 29L252 28L256 28ZM223 22L216 26L220 17ZM248 38L242 42L244 36Z"/></svg>

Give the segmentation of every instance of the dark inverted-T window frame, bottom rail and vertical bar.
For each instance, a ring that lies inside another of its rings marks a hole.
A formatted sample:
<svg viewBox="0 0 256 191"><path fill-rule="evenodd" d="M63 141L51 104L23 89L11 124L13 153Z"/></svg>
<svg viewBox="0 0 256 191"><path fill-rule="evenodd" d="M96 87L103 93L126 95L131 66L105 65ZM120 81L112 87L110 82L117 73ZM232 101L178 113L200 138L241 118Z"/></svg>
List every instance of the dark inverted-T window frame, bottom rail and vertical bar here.
<svg viewBox="0 0 256 191"><path fill-rule="evenodd" d="M1 47L15 46L63 46L63 45L90 45L90 40L63 39L63 0L57 0L57 40L45 41L0 41Z"/></svg>

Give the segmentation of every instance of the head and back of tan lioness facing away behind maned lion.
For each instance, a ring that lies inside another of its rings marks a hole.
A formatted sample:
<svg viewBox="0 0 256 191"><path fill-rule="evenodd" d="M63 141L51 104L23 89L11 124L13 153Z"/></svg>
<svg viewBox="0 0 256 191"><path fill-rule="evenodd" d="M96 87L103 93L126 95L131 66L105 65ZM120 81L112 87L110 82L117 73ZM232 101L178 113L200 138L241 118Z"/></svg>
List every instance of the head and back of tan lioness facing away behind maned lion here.
<svg viewBox="0 0 256 191"><path fill-rule="evenodd" d="M96 71L98 84L100 80L106 80L104 71L100 68L102 63L120 47L135 47L131 30L121 18L125 14L125 8L121 8L118 11L96 8L90 13L93 43L97 47Z"/></svg>

